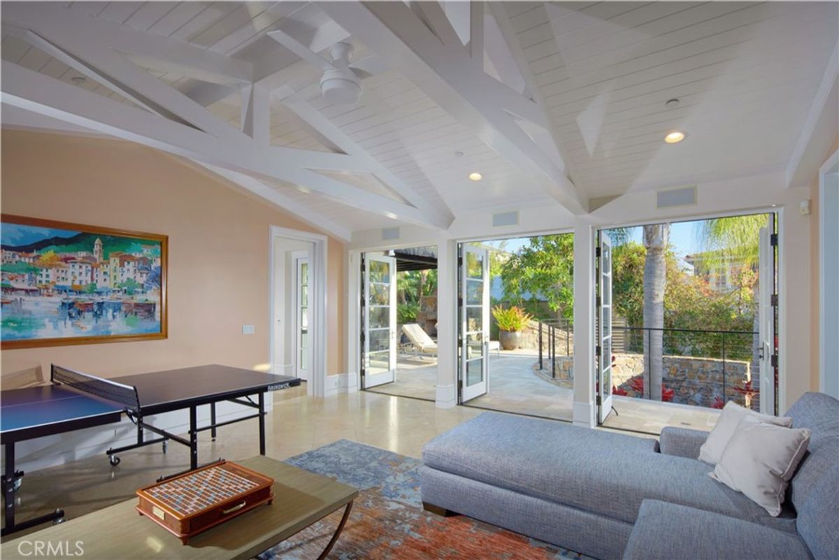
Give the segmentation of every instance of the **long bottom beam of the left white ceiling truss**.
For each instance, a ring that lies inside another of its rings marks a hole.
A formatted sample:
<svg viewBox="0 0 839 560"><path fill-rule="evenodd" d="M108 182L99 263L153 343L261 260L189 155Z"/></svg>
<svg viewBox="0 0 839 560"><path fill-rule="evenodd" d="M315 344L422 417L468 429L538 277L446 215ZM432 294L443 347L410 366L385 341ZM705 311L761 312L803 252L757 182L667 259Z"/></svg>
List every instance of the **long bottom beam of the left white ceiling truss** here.
<svg viewBox="0 0 839 560"><path fill-rule="evenodd" d="M394 220L439 228L447 226L446 220L438 215L427 215L414 206L312 170L367 171L366 168L359 169L355 158L347 155L260 146L241 132L245 142L213 137L5 60L0 68L3 76L0 82L2 101L8 105L240 173L279 179L296 185L304 192L315 192L344 205L386 215Z"/></svg>

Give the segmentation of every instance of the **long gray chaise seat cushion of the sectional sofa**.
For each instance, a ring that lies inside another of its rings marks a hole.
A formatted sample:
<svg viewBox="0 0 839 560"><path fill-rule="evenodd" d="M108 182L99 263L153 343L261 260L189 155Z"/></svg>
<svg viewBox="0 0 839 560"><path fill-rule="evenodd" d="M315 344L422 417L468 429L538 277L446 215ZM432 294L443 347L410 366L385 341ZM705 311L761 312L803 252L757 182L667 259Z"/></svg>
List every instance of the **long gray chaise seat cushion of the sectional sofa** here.
<svg viewBox="0 0 839 560"><path fill-rule="evenodd" d="M432 439L423 461L432 469L629 523L651 498L795 531L795 520L773 518L712 480L710 465L654 449L652 439L485 413Z"/></svg>

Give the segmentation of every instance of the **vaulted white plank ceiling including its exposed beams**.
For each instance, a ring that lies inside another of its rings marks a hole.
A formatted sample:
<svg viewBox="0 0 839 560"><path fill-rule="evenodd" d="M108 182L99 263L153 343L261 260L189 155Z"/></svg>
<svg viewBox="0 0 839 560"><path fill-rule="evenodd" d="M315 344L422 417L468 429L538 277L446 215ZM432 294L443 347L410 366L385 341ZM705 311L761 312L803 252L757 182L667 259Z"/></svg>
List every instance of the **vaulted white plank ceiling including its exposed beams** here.
<svg viewBox="0 0 839 560"><path fill-rule="evenodd" d="M579 214L787 167L837 21L797 2L3 3L3 123L180 154L345 238ZM274 30L352 44L357 104L326 101Z"/></svg>

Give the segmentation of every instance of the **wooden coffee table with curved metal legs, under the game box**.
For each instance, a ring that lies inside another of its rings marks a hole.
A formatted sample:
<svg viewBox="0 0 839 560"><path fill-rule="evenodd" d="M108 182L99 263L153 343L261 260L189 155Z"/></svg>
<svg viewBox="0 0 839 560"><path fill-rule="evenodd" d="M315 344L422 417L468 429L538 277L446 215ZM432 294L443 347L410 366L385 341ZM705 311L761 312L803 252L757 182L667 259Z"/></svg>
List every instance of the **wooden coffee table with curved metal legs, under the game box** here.
<svg viewBox="0 0 839 560"><path fill-rule="evenodd" d="M245 560L343 507L344 515L341 522L320 554L320 559L326 558L347 522L352 500L356 499L358 490L326 476L297 469L268 457L254 457L238 463L276 480L274 502L190 538L186 545L181 544L180 539L173 537L162 527L138 515L134 509L137 499L133 498L86 516L70 519L60 525L29 533L24 537L4 540L0 546L0 556L4 560L31 558L34 554L34 543L41 541L48 543L42 545L44 552L47 551L49 543L52 543L53 547L63 543L65 550L58 556L42 554L39 557L69 556L66 551L76 551L76 542L81 542L80 547L84 553L75 555L86 560Z"/></svg>

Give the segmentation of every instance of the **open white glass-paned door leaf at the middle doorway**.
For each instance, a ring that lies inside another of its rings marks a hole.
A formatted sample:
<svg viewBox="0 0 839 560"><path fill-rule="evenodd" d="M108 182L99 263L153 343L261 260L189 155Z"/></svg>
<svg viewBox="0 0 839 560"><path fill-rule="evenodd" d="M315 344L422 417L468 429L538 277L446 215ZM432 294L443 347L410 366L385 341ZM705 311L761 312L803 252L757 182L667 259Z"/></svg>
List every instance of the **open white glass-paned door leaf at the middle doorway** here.
<svg viewBox="0 0 839 560"><path fill-rule="evenodd" d="M463 245L461 267L461 402L489 386L489 251Z"/></svg>

